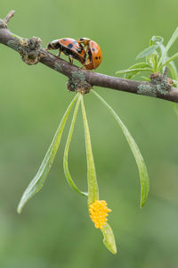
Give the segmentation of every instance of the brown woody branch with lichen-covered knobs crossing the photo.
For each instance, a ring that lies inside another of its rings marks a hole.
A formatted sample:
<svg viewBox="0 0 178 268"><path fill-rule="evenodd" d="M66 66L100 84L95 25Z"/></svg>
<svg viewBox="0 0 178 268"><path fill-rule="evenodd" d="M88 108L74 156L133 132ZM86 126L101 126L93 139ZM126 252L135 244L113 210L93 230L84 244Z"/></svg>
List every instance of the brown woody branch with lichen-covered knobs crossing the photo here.
<svg viewBox="0 0 178 268"><path fill-rule="evenodd" d="M178 103L178 88L172 87L172 80L166 78L166 73L151 74L150 82L125 80L94 71L87 71L68 63L47 52L41 46L40 38L20 38L7 29L14 11L8 13L4 20L0 20L0 43L17 51L25 63L44 65L58 71L69 78L68 88L71 91L89 92L93 86L110 88L144 96L154 96Z"/></svg>

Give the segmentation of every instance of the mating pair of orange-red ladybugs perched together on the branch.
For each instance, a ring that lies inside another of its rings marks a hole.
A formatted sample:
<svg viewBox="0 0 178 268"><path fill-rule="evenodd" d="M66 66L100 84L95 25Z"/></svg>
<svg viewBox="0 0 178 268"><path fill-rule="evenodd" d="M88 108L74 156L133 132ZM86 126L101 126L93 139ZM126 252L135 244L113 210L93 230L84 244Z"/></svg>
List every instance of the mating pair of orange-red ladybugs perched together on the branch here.
<svg viewBox="0 0 178 268"><path fill-rule="evenodd" d="M69 62L73 63L73 59L82 63L87 70L96 69L102 60L101 47L89 38L61 38L50 42L46 50L59 49L58 57L61 52L69 56Z"/></svg>

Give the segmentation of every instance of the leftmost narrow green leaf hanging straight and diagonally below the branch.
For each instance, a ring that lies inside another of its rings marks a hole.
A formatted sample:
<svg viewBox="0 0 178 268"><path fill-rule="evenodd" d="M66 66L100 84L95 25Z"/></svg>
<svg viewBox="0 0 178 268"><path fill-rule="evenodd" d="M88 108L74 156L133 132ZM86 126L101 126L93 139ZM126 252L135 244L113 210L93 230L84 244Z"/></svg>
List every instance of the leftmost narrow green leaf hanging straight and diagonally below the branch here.
<svg viewBox="0 0 178 268"><path fill-rule="evenodd" d="M66 121L69 117L70 110L75 104L78 94L79 93L77 93L77 95L73 98L73 100L69 104L67 111L61 120L60 126L53 137L52 144L49 147L46 155L44 156L44 160L38 172L36 173L35 178L30 182L30 184L28 185L28 188L25 190L23 196L20 199L20 204L18 205L18 209L17 209L17 212L19 214L21 213L23 206L28 202L29 198L33 197L44 186L44 181L46 179L48 172L50 171L52 167L54 157L60 145L61 135L64 130Z"/></svg>

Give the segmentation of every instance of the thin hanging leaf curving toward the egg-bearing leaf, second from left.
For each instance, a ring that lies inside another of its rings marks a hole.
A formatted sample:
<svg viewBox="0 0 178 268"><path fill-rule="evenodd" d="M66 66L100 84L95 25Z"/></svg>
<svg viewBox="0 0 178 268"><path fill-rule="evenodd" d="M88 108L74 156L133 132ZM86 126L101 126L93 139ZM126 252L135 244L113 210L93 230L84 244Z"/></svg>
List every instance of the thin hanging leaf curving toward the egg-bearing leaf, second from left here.
<svg viewBox="0 0 178 268"><path fill-rule="evenodd" d="M64 150L63 167L64 167L64 173L65 173L66 179L68 180L70 187L73 188L75 191L77 191L78 194L87 197L88 194L80 191L79 188L77 188L76 184L74 183L74 180L72 180L70 173L69 173L69 165L68 165L69 146L70 146L74 126L75 126L76 119L77 119L77 112L78 112L78 106L80 104L80 101L81 101L81 94L79 94L78 96L76 108L74 110L74 115L73 115L70 129L69 129L69 136L68 136L66 147Z"/></svg>

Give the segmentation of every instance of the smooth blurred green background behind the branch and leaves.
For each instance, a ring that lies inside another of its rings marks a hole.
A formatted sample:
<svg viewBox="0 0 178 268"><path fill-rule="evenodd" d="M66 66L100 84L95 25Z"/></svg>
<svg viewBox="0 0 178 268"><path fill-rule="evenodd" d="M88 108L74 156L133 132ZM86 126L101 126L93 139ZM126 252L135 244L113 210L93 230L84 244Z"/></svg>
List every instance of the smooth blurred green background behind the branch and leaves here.
<svg viewBox="0 0 178 268"><path fill-rule="evenodd" d="M177 0L1 0L0 17L12 9L12 32L40 37L44 46L66 37L97 41L103 52L97 71L110 75L134 64L151 36L167 42L178 26ZM74 94L64 76L42 64L22 63L8 47L0 46L0 59L0 267L178 267L178 119L171 103L96 88L125 122L148 165L150 196L140 209L138 171L125 138L101 103L85 96L101 199L112 209L109 223L118 253L111 255L89 220L85 198L64 177L69 124L43 190L21 215L16 213ZM81 114L69 167L77 185L86 189Z"/></svg>

